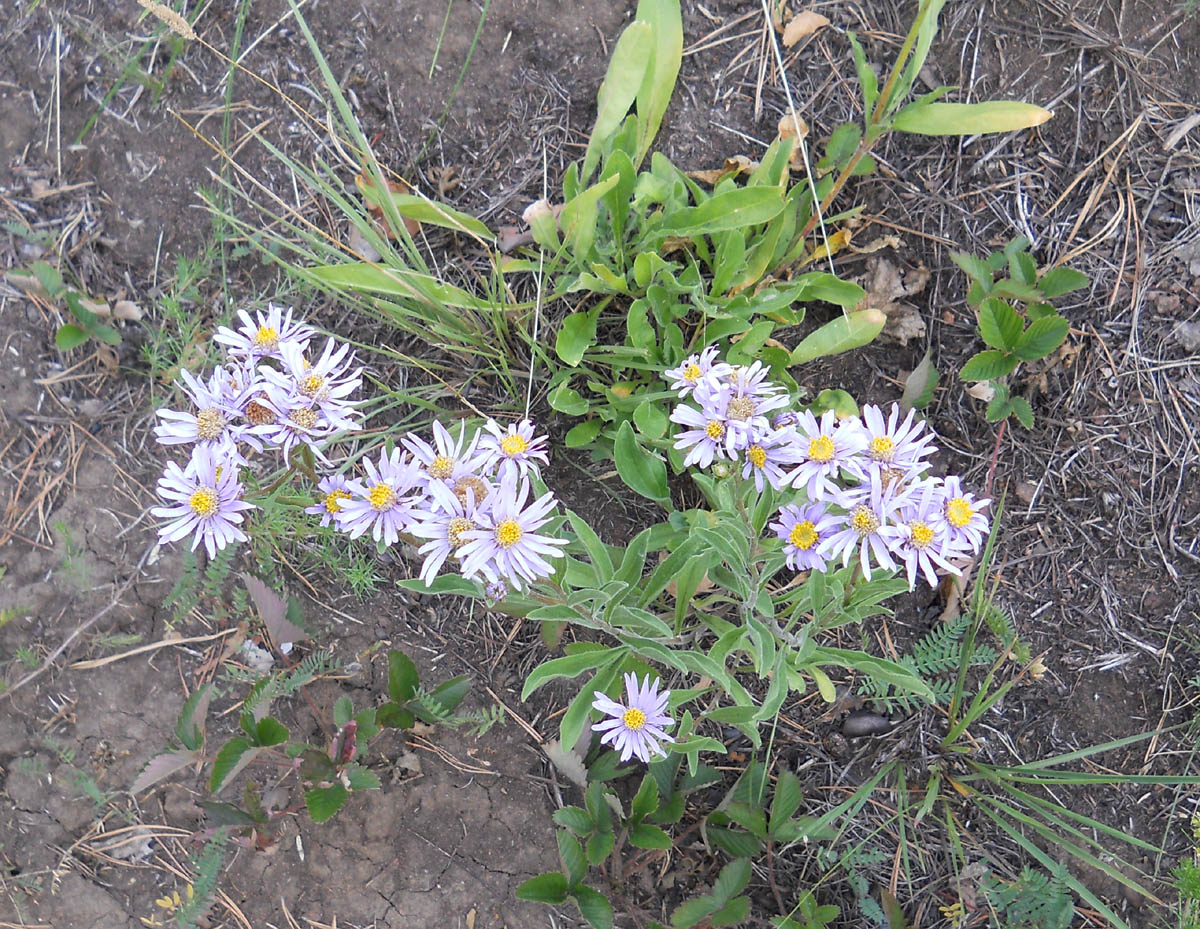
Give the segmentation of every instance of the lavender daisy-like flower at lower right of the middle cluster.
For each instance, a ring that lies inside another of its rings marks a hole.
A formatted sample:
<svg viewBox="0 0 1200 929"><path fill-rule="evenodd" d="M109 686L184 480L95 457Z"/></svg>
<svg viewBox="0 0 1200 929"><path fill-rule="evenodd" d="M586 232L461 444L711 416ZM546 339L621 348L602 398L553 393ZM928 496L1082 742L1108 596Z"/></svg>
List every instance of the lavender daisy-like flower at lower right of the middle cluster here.
<svg viewBox="0 0 1200 929"><path fill-rule="evenodd" d="M484 575L488 581L505 581L520 591L523 583L554 573L546 559L562 558L560 546L566 545L566 539L536 532L550 522L554 495L545 493L527 507L528 497L529 481L510 472L490 505L475 510L473 519L479 528L460 534L464 540L457 552L463 577Z"/></svg>

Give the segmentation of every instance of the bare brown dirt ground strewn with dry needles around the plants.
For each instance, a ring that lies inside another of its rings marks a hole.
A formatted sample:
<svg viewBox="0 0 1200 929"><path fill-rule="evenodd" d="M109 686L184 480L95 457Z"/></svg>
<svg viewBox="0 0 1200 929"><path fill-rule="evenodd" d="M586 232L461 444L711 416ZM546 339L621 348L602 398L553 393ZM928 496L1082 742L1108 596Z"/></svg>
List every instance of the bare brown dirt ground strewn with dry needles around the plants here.
<svg viewBox="0 0 1200 929"><path fill-rule="evenodd" d="M208 139L220 137L224 67L192 47L168 71L169 42L152 44L143 66L166 84L155 101L151 88L121 80L122 62L156 34L154 22L137 18L137 6L30 6L13 5L0 46L0 204L10 223L0 235L4 264L61 253L90 292L137 301L154 326L175 259L196 254L210 232L196 193L212 186L220 161L184 121ZM305 10L382 160L427 184L454 172L451 200L500 223L540 194L544 150L552 178L582 150L607 49L631 6L514 0L490 8L440 127L478 22L475 5L451 7L432 78L443 0L414 0L402 14L391 0L313 0ZM881 60L895 49L908 14L907 5L902 13L892 6L836 0L822 10L836 26L857 30ZM689 53L661 148L689 169L755 155L755 139L772 137L784 109L757 6L720 0L685 7ZM318 78L284 11L282 0L254 0L244 46L258 41L244 64L307 103L304 88ZM228 48L234 5L211 5L198 28L205 41ZM949 248L978 252L1022 232L1036 239L1042 263L1069 257L1090 274L1091 289L1062 307L1073 322L1068 346L1020 385L1037 412L1036 427L1003 437L995 474L995 491L1008 501L998 598L1046 651L1050 669L990 719L996 738L1026 760L1192 717L1189 682L1200 664L1200 485L1192 477L1200 463L1200 371L1176 328L1200 312L1200 130L1172 132L1200 102L1198 49L1200 14L1186 19L1150 0L948 5L929 80L961 85L971 98L1052 101L1055 119L1032 133L962 144L893 139L880 151L881 174L857 192L872 217L857 240L894 233L900 245L886 252L889 259L932 272L911 298L926 334L805 371L814 389L846 386L860 401L888 401L928 347L943 371L929 410L943 437L943 466L980 486L996 431L953 376L978 344ZM834 30L791 56L793 90L816 136L851 118L851 73ZM95 127L72 144L114 83L120 88ZM305 161L328 143L262 84L240 77L234 103L239 163L290 196L289 180L248 140L250 130ZM18 226L42 238L14 234ZM866 258L844 257L844 274L866 269ZM264 280L256 262L234 260L224 286L206 282L202 298L238 300ZM208 312L199 301L194 311ZM127 645L114 645L120 640L113 636L160 641L168 631L162 601L181 562L154 550L148 521L161 455L146 442L157 386L137 352L138 330L127 328L114 372L113 359L54 349L58 312L4 286L0 609L14 618L0 625L0 659L10 663L10 683L29 671L19 654L49 666L0 711L0 919L137 927L168 918L155 899L185 886L186 856L194 851L186 837L198 825L192 801L203 795L203 781L184 774L136 801L124 790L169 736L184 689L211 675L221 643L70 667L124 651ZM581 495L574 505L587 504ZM595 515L614 540L646 519L608 504ZM378 643L391 642L425 671L474 673L476 706L503 700L535 732L553 732L556 705L517 699L524 671L542 654L533 630L398 593L360 603L336 582L314 580L314 625L329 630L348 661L376 647L353 675L312 688L317 707L328 709L341 693L361 691L360 702L378 694ZM304 585L296 579L293 587ZM116 593L115 606L89 625ZM928 629L930 600L904 604L888 635L904 642ZM220 630L194 611L178 631ZM887 646L882 633L870 634ZM318 732L307 703L287 712L294 731ZM830 743L835 725L822 712L800 701L785 714L797 736L785 756L815 759L809 777L817 789L845 777L847 757ZM510 718L480 741L439 730L424 743L380 744L384 756L418 757L420 772L396 767L396 783L385 783L382 796L354 798L326 827L288 823L271 853L238 852L227 861L210 924L556 924L548 911L512 895L524 877L556 865L550 813L566 790L529 732ZM898 745L880 739L857 750L854 762L869 766ZM1122 771L1190 771L1183 741L1133 749L1105 761ZM1164 843L1169 857L1145 867L1169 868L1187 847L1182 801L1128 791L1082 793L1075 802L1088 815ZM154 841L146 856L130 859L114 852L106 833L132 825L149 828L144 834ZM676 871L680 886L706 880L712 865L686 850ZM686 879L689 868L695 879ZM799 882L798 873L793 877ZM1145 901L1093 883L1133 922L1152 924L1156 913ZM938 923L936 904L950 898L937 894L947 887L925 895L908 888L901 901L914 924ZM626 903L661 918L662 899L641 887ZM571 915L556 918L569 924Z"/></svg>

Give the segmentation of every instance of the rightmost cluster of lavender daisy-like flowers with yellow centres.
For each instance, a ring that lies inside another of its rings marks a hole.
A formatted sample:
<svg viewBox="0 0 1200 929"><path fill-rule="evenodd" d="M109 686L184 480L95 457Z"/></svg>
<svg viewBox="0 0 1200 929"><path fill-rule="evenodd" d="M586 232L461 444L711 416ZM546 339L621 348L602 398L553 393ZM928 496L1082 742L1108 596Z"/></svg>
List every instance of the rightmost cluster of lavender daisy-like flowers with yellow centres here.
<svg viewBox="0 0 1200 929"><path fill-rule="evenodd" d="M796 413L761 362L736 367L712 347L665 377L691 401L671 414L684 427L674 446L685 464L724 458L760 491L797 492L799 502L770 523L793 570L857 561L866 579L872 568L902 568L910 587L918 575L936 585L940 574L960 574L955 562L983 545L990 501L964 491L959 478L928 473L935 437L913 410Z"/></svg>

